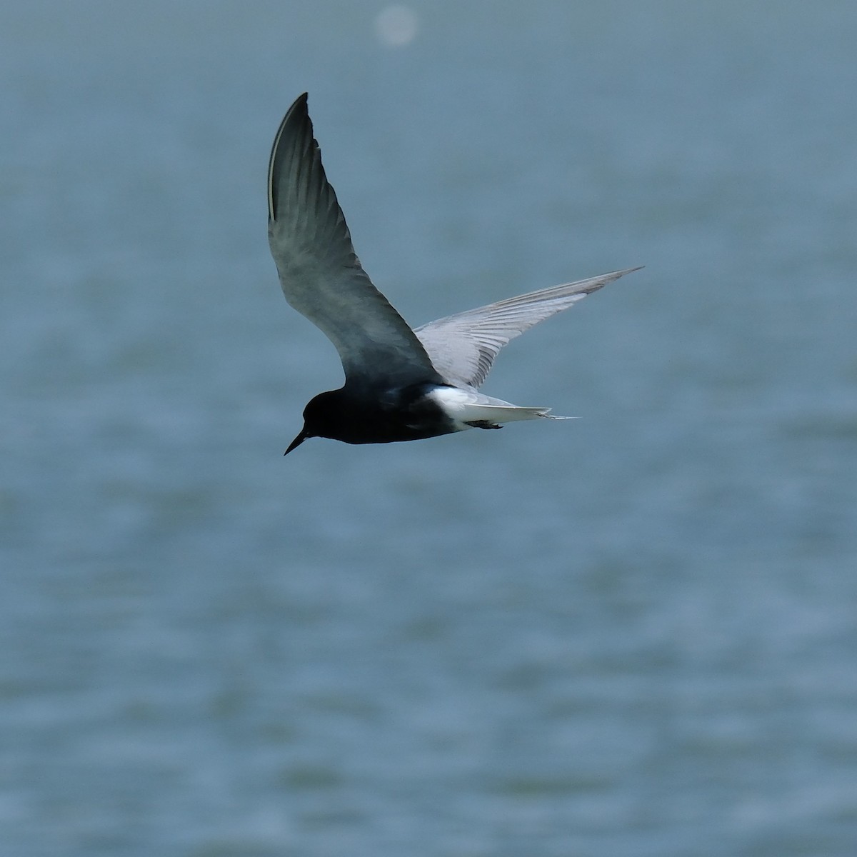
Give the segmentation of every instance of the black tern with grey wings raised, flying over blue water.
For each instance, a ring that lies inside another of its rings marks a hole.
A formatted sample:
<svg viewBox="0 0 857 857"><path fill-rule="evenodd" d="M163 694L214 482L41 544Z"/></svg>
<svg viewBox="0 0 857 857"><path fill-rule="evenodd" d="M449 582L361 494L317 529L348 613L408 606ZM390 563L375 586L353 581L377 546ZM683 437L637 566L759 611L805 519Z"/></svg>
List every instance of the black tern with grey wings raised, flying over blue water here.
<svg viewBox="0 0 857 857"><path fill-rule="evenodd" d="M411 329L363 271L303 93L280 123L268 165L268 242L285 299L336 346L345 385L303 411L287 455L309 437L421 440L553 417L478 392L509 340L638 268L605 273L449 315Z"/></svg>

